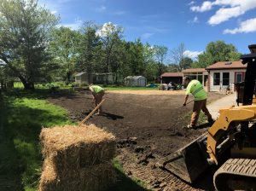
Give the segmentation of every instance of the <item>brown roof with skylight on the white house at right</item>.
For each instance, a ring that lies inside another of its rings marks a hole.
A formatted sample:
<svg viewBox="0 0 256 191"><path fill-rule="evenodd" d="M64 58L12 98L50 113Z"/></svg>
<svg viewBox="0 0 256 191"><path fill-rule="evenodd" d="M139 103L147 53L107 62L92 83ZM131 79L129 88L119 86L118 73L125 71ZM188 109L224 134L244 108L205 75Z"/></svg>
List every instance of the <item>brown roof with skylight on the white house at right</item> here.
<svg viewBox="0 0 256 191"><path fill-rule="evenodd" d="M243 65L241 61L218 61L215 64L207 67L207 70L214 69L242 69L247 68L247 64Z"/></svg>

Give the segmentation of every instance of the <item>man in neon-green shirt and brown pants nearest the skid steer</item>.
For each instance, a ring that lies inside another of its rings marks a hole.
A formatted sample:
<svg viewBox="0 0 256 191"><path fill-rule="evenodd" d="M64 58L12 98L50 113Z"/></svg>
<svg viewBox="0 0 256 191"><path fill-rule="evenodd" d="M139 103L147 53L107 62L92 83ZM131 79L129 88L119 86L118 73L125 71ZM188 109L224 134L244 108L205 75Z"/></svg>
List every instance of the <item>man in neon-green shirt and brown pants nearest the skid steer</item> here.
<svg viewBox="0 0 256 191"><path fill-rule="evenodd" d="M183 103L183 106L186 106L189 94L192 94L194 96L194 107L193 107L193 113L191 116L190 124L188 124L188 128L195 128L195 125L197 123L197 120L199 118L199 114L201 110L205 115L207 116L208 122L210 124L214 123L214 120L212 119L211 113L209 113L207 109L207 92L204 89L204 87L201 85L201 83L196 80L190 80L189 77L184 78L184 85L187 86L186 89L186 96Z"/></svg>

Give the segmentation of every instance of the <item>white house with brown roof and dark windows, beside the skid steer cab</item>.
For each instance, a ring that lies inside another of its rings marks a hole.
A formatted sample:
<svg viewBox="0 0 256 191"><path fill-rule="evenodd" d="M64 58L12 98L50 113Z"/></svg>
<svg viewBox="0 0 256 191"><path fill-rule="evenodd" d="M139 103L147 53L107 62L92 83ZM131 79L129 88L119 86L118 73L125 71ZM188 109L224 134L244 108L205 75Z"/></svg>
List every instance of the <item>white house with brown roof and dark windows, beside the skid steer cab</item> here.
<svg viewBox="0 0 256 191"><path fill-rule="evenodd" d="M246 68L241 61L218 61L207 67L208 91L224 91L228 86L235 90L235 84L244 80Z"/></svg>

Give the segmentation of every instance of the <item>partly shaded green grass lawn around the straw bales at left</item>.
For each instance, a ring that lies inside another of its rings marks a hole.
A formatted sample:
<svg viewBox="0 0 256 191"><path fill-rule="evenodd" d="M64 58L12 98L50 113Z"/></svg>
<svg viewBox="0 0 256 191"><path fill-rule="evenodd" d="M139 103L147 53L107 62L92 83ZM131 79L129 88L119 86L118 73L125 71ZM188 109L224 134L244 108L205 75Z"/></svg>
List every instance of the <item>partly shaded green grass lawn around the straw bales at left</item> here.
<svg viewBox="0 0 256 191"><path fill-rule="evenodd" d="M47 90L0 93L0 190L36 191L42 171L38 136L42 126L72 124L67 111L45 100ZM119 181L111 190L145 190L113 160Z"/></svg>

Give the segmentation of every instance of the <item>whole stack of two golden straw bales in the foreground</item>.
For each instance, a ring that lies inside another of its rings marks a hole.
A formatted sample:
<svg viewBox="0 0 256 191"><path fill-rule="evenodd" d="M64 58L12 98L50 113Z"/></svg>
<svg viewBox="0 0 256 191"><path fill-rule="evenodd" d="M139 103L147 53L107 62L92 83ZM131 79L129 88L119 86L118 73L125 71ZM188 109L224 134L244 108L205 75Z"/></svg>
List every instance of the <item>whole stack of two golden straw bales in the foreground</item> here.
<svg viewBox="0 0 256 191"><path fill-rule="evenodd" d="M94 124L44 128L40 191L100 191L115 181L115 137Z"/></svg>

